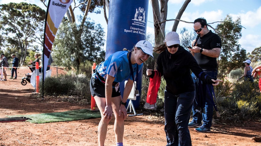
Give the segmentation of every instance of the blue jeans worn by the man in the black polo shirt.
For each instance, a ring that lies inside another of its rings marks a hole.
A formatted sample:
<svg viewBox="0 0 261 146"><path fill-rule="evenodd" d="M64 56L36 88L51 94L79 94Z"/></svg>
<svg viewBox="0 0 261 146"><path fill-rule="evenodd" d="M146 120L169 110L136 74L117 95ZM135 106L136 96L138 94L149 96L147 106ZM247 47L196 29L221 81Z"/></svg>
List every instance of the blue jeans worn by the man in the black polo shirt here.
<svg viewBox="0 0 261 146"><path fill-rule="evenodd" d="M204 70L204 73L207 75L216 78L217 77L217 70ZM198 78L195 76L194 73L191 74L193 82L196 87L196 92L197 92L197 87L198 87ZM211 89L211 88L210 88ZM213 104L211 102L211 98L206 94L206 103L205 103L205 113L202 112L202 117L199 112L196 111L197 107L197 102L196 100L193 102L192 106L192 112L193 112L193 122L197 124L201 124L201 120L203 121L202 126L206 127L207 129L210 129L211 123L212 123L212 117L213 117ZM196 94L197 96L197 94Z"/></svg>

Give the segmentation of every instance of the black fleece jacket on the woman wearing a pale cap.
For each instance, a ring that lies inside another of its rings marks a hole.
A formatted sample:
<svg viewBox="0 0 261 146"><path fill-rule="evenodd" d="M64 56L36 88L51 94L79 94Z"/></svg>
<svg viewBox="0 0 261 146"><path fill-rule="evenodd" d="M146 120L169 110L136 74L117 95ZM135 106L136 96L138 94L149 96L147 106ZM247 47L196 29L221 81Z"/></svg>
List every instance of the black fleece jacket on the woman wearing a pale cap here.
<svg viewBox="0 0 261 146"><path fill-rule="evenodd" d="M157 58L157 70L166 80L166 90L173 95L195 91L190 70L197 77L202 73L200 77L203 82L213 83L211 81L213 78L203 73L192 54L182 46L179 46L175 54L171 54L167 49L161 52ZM153 76L154 72L150 77Z"/></svg>

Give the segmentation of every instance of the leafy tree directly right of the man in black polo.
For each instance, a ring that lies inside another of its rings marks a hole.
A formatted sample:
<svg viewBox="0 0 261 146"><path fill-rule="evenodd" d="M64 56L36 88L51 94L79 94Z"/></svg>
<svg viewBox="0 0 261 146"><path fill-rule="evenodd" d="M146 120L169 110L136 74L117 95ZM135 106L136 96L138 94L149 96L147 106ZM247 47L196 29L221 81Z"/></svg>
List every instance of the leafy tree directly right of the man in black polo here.
<svg viewBox="0 0 261 146"><path fill-rule="evenodd" d="M233 21L230 15L227 15L223 22L216 26L215 31L222 41L218 69L223 75L242 67L242 62L246 60L246 50L241 48L238 42L242 37L241 30L241 18L238 17Z"/></svg>

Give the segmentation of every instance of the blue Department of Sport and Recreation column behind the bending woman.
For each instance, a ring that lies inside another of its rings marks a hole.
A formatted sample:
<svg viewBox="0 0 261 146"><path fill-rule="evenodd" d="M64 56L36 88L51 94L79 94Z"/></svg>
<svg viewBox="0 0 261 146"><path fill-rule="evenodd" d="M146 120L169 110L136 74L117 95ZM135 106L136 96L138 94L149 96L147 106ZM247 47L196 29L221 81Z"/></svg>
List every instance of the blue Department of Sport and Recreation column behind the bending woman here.
<svg viewBox="0 0 261 146"><path fill-rule="evenodd" d="M140 40L146 40L147 14L149 0L111 0L107 28L105 59L123 48L131 50ZM137 88L141 93L142 72L139 73ZM121 94L124 90L124 81L120 83ZM140 96L133 101L138 108Z"/></svg>

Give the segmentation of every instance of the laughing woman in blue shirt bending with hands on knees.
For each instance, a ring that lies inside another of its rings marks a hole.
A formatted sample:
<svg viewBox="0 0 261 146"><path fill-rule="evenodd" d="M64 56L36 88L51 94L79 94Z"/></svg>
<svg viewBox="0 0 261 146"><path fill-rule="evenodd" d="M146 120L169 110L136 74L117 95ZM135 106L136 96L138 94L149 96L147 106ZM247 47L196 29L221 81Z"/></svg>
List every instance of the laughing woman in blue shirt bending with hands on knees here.
<svg viewBox="0 0 261 146"><path fill-rule="evenodd" d="M114 113L114 133L116 145L123 146L124 119L127 116L125 108L127 98L133 87L134 79L140 72L142 65L152 55L153 47L150 42L137 42L131 52L117 51L107 60L96 66L96 71L90 80L91 94L101 113L98 126L99 146L104 146L107 127ZM128 79L123 97L121 97L119 83ZM139 95L137 95L139 96Z"/></svg>

